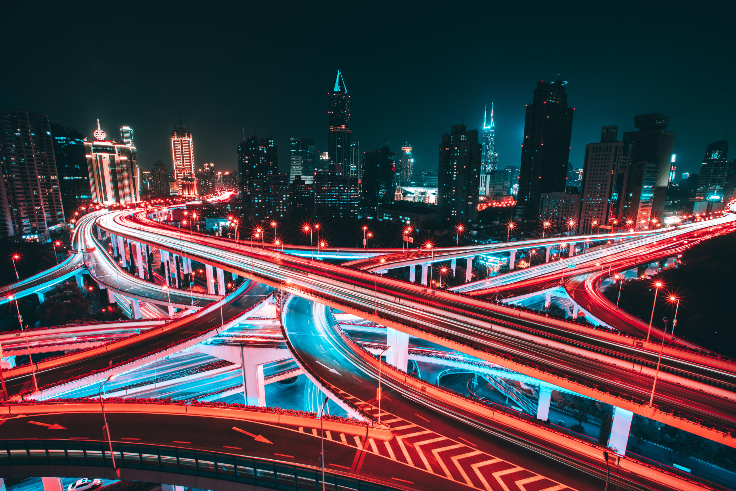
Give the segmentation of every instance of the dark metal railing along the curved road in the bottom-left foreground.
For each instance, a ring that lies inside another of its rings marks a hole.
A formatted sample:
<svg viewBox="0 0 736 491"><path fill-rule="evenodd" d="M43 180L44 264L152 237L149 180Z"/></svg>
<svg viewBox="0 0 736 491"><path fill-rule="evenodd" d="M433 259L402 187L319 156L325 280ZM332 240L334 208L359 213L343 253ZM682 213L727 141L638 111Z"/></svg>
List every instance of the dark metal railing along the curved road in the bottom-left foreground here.
<svg viewBox="0 0 736 491"><path fill-rule="evenodd" d="M322 471L266 459L252 459L185 448L113 443L121 469L141 469L222 479L275 490L322 490ZM3 465L84 465L112 467L107 442L9 440L0 442ZM399 491L375 482L347 478L325 469L328 491Z"/></svg>

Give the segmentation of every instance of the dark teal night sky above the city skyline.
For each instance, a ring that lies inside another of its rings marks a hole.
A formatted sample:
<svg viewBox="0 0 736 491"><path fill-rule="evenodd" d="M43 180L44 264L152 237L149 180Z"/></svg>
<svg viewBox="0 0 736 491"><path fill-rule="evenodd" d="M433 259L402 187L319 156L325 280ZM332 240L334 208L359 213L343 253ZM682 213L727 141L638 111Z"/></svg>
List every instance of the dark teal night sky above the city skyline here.
<svg viewBox="0 0 736 491"><path fill-rule="evenodd" d="M171 168L180 117L197 166L236 169L243 128L274 136L283 171L290 136L326 151L337 68L361 151L408 141L418 170L436 170L441 135L463 119L480 129L491 102L499 166L518 166L524 105L558 71L576 108L576 168L601 126L620 139L634 114L670 116L679 172L698 172L705 146L736 132L725 2L153 3L5 4L0 105L90 137L96 118L108 138L127 124L143 169Z"/></svg>

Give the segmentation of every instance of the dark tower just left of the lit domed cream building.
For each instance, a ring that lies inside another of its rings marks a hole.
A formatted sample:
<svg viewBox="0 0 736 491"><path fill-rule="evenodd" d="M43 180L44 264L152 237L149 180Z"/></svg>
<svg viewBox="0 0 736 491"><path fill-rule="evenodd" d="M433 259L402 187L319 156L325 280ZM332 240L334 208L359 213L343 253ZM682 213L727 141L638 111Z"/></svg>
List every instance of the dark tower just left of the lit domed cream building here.
<svg viewBox="0 0 736 491"><path fill-rule="evenodd" d="M65 216L73 216L77 208L86 206L92 197L85 157L85 138L76 128L51 123L54 156L59 173L59 191Z"/></svg>

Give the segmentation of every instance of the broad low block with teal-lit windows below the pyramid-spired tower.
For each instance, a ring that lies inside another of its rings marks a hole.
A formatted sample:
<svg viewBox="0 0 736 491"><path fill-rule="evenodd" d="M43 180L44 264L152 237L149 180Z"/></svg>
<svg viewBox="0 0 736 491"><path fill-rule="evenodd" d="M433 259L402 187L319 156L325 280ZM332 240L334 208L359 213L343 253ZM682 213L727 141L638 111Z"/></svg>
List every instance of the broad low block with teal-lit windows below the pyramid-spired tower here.
<svg viewBox="0 0 736 491"><path fill-rule="evenodd" d="M343 177L338 172L315 172L314 218L356 219L360 206L357 177Z"/></svg>

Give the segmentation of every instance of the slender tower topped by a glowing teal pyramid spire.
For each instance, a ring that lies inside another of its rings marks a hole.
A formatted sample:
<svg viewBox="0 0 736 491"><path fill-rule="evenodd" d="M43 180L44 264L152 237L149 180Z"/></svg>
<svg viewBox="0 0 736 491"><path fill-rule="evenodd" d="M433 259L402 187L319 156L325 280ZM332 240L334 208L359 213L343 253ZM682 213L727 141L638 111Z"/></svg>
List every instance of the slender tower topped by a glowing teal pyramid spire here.
<svg viewBox="0 0 736 491"><path fill-rule="evenodd" d="M334 172L342 173L350 166L350 96L347 95L345 81L339 70L335 87L328 95L328 153Z"/></svg>

